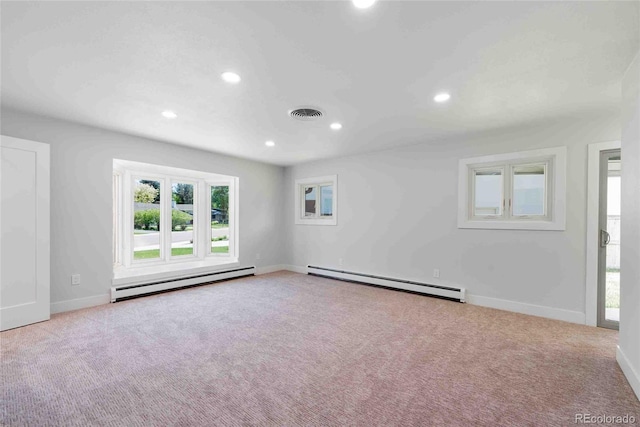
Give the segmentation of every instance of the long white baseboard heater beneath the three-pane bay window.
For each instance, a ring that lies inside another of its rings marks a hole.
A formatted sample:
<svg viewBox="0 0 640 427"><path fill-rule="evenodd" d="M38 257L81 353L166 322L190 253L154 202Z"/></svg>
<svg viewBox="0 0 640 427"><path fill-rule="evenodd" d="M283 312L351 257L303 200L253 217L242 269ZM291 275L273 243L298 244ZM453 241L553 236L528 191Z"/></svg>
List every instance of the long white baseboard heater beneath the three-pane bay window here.
<svg viewBox="0 0 640 427"><path fill-rule="evenodd" d="M111 288L111 302L124 301L140 296L156 294L160 292L172 291L193 286L206 285L223 280L235 279L238 277L253 276L256 274L255 267L242 267L233 270L216 271L213 273L199 274L197 276L185 276L177 279L158 280L149 283L114 286Z"/></svg>

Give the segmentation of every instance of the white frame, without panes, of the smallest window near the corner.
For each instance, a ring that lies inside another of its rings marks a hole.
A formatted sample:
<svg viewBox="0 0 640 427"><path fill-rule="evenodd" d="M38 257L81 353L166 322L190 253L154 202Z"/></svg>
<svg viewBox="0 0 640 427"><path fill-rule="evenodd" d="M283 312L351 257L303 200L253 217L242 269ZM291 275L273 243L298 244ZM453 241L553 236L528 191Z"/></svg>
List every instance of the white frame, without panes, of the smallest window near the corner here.
<svg viewBox="0 0 640 427"><path fill-rule="evenodd" d="M331 216L323 217L321 211L320 187L331 185ZM304 187L316 187L316 214L312 217L305 216L305 192ZM296 179L294 199L294 218L298 225L337 225L338 224L338 175L318 176L313 178Z"/></svg>

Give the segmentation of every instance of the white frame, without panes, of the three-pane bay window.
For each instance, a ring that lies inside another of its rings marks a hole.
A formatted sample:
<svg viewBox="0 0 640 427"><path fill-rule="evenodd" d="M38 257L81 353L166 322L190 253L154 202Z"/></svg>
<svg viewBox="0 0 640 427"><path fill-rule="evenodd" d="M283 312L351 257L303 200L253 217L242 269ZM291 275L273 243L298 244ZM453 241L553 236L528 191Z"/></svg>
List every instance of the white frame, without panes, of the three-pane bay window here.
<svg viewBox="0 0 640 427"><path fill-rule="evenodd" d="M113 160L114 175L114 283L122 284L140 280L144 276L154 277L185 270L211 270L239 265L239 209L237 177L208 172L160 166L128 160ZM133 256L133 186L137 179L160 182L160 258L134 260ZM194 186L194 242L193 255L171 255L172 232L172 184L184 183ZM211 217L211 185L229 186L229 253L211 253L211 227L202 218ZM202 222L203 227L199 227ZM198 228L196 228L198 227ZM200 231L198 231L200 230Z"/></svg>

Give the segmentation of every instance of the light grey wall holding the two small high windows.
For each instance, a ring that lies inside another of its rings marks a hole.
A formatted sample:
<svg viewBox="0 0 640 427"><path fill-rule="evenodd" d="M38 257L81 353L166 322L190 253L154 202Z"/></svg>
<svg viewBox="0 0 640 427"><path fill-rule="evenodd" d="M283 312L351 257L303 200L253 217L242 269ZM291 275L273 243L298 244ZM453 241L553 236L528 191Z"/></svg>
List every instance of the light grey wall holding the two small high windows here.
<svg viewBox="0 0 640 427"><path fill-rule="evenodd" d="M587 144L619 138L615 118L558 119L288 167L288 263L338 267L342 258L344 270L457 284L477 304L584 322ZM457 228L458 159L562 145L566 231ZM295 179L331 174L338 174L338 225L294 225Z"/></svg>

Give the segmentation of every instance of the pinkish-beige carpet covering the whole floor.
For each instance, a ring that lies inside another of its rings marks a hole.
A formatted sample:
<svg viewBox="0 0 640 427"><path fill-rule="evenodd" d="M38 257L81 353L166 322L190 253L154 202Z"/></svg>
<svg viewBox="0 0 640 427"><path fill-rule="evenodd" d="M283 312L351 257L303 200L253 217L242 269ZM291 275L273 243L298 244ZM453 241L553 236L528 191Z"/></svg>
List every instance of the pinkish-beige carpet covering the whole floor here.
<svg viewBox="0 0 640 427"><path fill-rule="evenodd" d="M286 272L55 315L0 340L10 426L640 419L616 332Z"/></svg>

